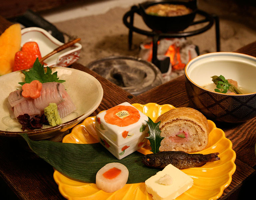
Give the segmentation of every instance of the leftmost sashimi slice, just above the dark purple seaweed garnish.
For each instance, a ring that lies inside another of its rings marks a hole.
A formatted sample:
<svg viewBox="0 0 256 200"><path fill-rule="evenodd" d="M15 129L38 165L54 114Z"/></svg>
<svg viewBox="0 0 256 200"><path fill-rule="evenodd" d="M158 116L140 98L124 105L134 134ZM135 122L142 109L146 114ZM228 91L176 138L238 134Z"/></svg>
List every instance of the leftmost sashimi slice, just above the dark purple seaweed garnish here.
<svg viewBox="0 0 256 200"><path fill-rule="evenodd" d="M33 99L28 99L17 104L13 108L14 116L17 118L19 115L27 113L29 116L40 115L42 112L36 108Z"/></svg>

